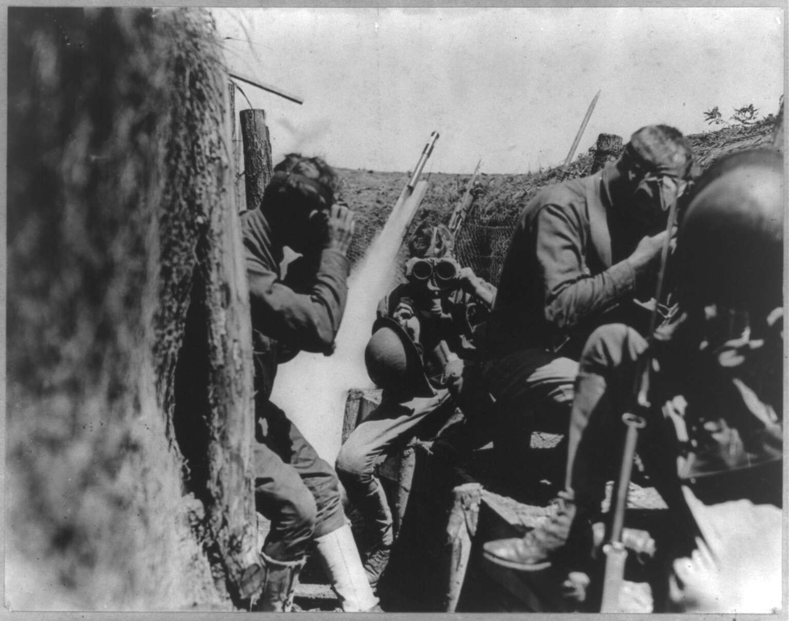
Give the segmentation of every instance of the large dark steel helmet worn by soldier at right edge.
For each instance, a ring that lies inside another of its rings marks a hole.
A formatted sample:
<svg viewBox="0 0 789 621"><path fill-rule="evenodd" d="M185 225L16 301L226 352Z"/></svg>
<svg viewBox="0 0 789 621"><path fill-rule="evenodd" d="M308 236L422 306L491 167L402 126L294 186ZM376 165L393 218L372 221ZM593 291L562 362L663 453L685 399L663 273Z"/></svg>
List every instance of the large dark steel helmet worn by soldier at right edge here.
<svg viewBox="0 0 789 621"><path fill-rule="evenodd" d="M728 155L701 176L677 238L686 308L756 319L783 305L783 187L783 157L767 150Z"/></svg>

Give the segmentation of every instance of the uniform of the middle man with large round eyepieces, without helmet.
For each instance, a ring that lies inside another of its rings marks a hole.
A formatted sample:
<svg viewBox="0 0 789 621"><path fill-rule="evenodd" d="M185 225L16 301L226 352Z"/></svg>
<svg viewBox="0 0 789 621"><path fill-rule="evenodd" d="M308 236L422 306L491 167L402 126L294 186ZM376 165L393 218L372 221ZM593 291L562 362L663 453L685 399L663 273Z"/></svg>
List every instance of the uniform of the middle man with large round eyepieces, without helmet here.
<svg viewBox="0 0 789 621"><path fill-rule="evenodd" d="M481 282L481 286L495 294L495 288L488 283ZM424 290L406 282L380 301L376 313L379 322L384 318L394 322L403 305L413 310L413 318L406 322L401 338L407 339L407 344L419 354L416 364L421 368L409 372L421 376L421 384L416 389L406 384L398 389L384 388L380 405L351 432L336 463L350 501L374 522L376 548L365 563L372 584L376 584L386 564L387 550L393 541L391 510L375 475L376 464L393 447L402 446L415 436L423 425L436 422L439 413L448 418L453 410L444 406L450 402L469 417L476 415L477 425L490 410L490 398L475 365L473 330L487 316L488 303L459 286L425 301ZM462 362L455 366L457 372L447 372L447 354ZM376 554L380 555L377 560Z"/></svg>

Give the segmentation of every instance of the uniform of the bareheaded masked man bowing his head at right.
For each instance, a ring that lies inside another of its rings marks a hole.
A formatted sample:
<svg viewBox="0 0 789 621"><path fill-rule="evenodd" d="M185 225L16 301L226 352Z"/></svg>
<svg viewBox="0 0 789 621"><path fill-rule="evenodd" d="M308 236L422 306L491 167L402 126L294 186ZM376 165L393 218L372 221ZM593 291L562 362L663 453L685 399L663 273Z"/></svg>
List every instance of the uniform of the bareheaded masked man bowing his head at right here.
<svg viewBox="0 0 789 621"><path fill-rule="evenodd" d="M537 417L567 425L578 356L595 327L621 321L645 331L648 313L636 298L653 274L627 260L639 238L602 171L544 189L522 211L482 357L502 426L499 451L521 454Z"/></svg>

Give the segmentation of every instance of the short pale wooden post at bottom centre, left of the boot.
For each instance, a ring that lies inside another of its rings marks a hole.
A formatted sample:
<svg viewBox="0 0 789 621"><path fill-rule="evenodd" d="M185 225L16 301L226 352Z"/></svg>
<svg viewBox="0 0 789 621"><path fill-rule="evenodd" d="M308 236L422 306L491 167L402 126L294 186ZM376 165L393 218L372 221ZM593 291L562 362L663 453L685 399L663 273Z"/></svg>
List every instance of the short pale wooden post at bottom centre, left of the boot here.
<svg viewBox="0 0 789 621"><path fill-rule="evenodd" d="M477 519L480 514L482 485L464 483L452 490L454 505L449 514L447 538L452 546L447 586L446 612L454 612L458 607L466 570L471 555L471 537L477 533Z"/></svg>

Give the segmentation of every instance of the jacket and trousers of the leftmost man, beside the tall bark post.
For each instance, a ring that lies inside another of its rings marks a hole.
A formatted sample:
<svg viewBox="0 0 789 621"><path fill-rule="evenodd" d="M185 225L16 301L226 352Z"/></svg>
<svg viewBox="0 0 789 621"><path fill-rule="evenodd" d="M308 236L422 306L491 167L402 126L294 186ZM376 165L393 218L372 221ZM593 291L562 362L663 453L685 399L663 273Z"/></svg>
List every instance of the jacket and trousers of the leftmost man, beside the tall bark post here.
<svg viewBox="0 0 789 621"><path fill-rule="evenodd" d="M283 346L331 353L347 297L346 256L324 249L311 279L283 280L282 252L260 209L241 215L255 362L258 511L271 519L264 552L275 559L303 556L312 537L344 524L334 469L269 400Z"/></svg>

